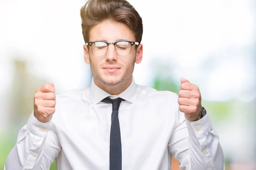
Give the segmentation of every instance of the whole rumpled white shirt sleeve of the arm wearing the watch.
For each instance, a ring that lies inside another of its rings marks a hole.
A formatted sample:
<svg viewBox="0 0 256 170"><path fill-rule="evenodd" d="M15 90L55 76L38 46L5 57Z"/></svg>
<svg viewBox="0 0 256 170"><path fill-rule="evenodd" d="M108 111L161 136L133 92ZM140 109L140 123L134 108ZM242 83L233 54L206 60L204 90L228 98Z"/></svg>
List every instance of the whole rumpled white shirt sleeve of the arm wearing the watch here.
<svg viewBox="0 0 256 170"><path fill-rule="evenodd" d="M191 122L178 109L168 149L180 162L181 170L224 170L219 136L212 128L208 113Z"/></svg>

